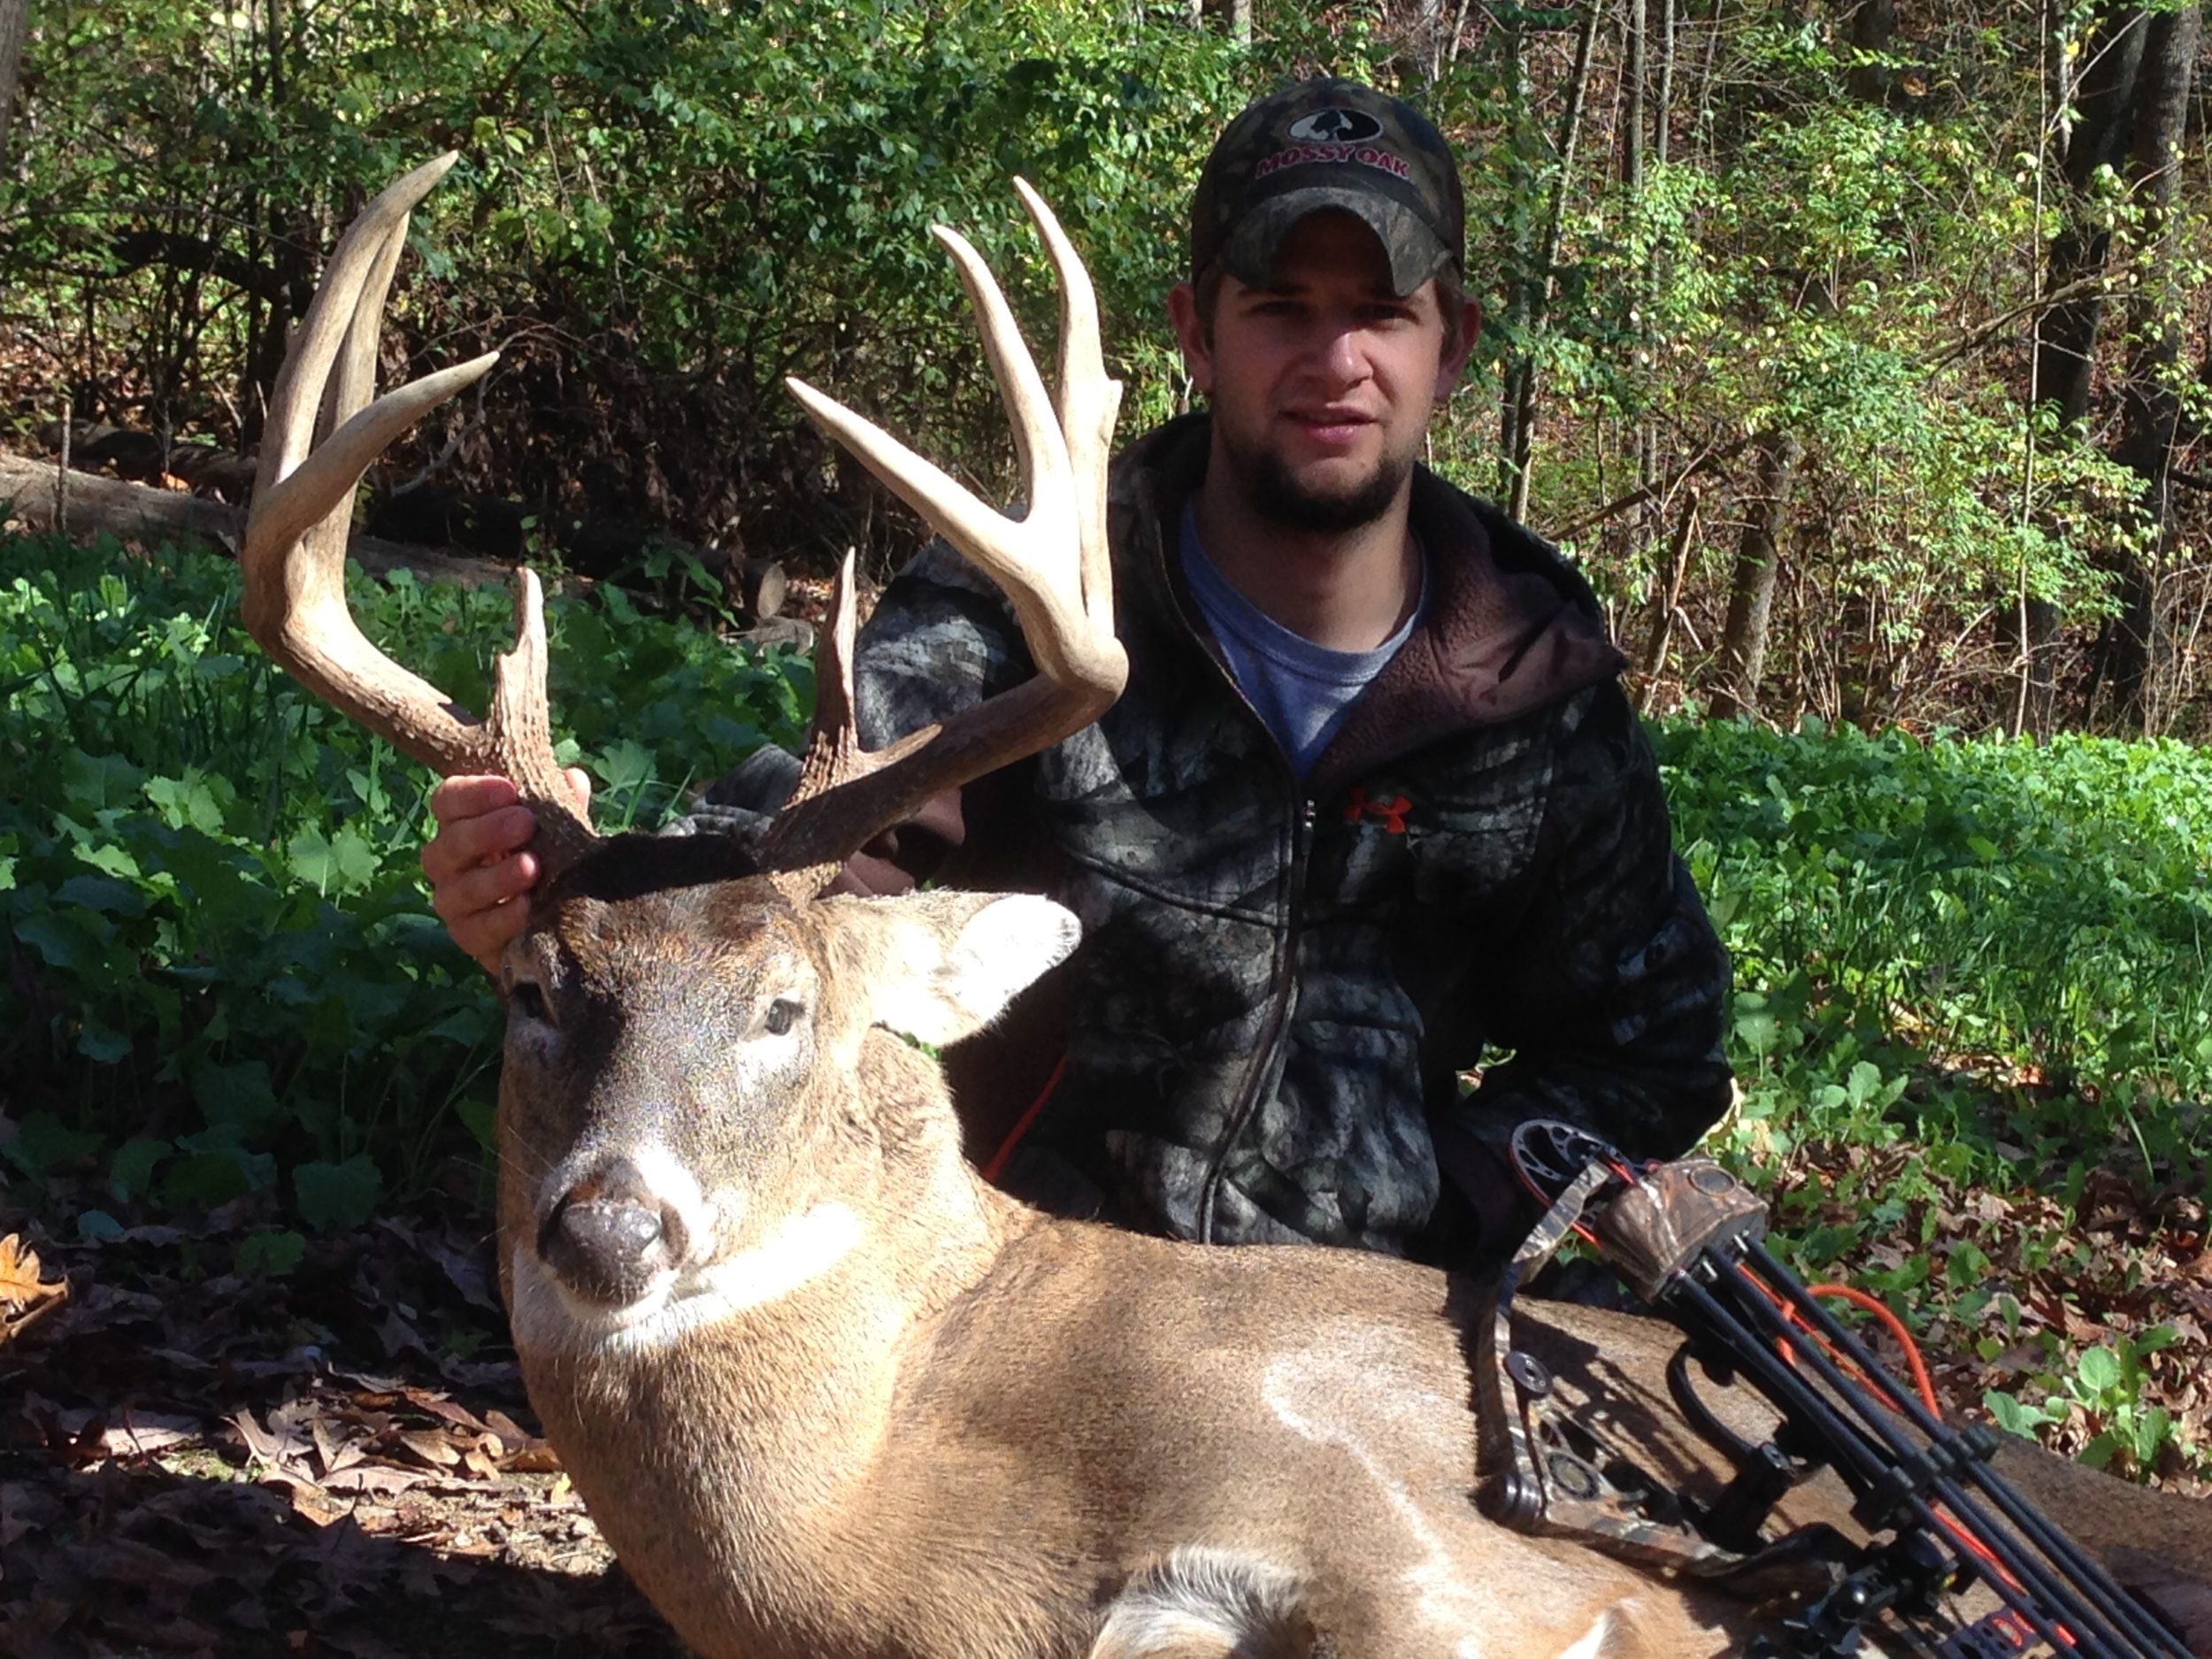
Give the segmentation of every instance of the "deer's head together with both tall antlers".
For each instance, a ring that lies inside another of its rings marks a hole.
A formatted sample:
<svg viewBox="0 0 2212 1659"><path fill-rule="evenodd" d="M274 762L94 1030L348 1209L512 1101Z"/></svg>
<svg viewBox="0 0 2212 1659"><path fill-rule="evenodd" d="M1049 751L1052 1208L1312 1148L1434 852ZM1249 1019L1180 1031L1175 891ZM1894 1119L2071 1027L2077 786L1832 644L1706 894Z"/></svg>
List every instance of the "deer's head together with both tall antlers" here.
<svg viewBox="0 0 2212 1659"><path fill-rule="evenodd" d="M1006 591L1037 677L956 721L860 750L847 555L801 781L765 843L595 841L553 761L544 622L526 571L515 650L500 661L482 721L387 659L345 608L345 520L361 471L495 361L367 400L407 215L451 161L387 188L332 254L272 396L248 520L246 619L283 668L403 752L445 774L502 772L538 812L546 878L500 975L502 1270L522 1263L524 1283L511 1285L518 1321L538 1307L533 1296L551 1296L580 1332L641 1336L765 1296L779 1274L834 1259L860 1225L849 1201L830 1197L841 1190L834 1177L854 1159L880 1164L887 1146L933 1157L951 1144L942 1113L936 1130L889 1121L896 1110L876 1126L883 1099L931 1086L911 1075L931 1068L880 1029L951 1042L1073 949L1073 916L1037 898L818 894L880 827L1088 726L1119 692L1104 504L1119 385L1099 361L1082 261L1026 184L1015 188L1062 281L1057 407L982 259L940 228L1013 418L1024 518L1002 518L836 400L790 387Z"/></svg>

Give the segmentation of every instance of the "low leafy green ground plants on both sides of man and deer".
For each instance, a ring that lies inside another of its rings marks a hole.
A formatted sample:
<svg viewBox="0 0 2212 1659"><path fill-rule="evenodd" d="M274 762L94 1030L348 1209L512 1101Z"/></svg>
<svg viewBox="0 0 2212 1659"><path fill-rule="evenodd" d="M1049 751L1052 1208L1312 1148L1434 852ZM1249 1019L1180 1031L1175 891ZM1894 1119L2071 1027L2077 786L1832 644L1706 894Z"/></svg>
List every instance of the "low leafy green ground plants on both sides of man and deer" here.
<svg viewBox="0 0 2212 1659"><path fill-rule="evenodd" d="M352 602L396 659L480 706L502 593L356 580ZM500 1015L420 887L429 779L294 690L234 611L226 560L0 538L18 1121L0 1168L91 1190L108 1208L88 1232L274 1190L292 1225L241 1270L283 1274L307 1234L425 1188L480 1199ZM604 588L549 619L557 737L599 779L602 827L653 827L750 745L796 741L796 661ZM2004 1281L1947 1221L1960 1186L2073 1197L2099 1164L2201 1179L2212 759L1732 723L1655 741L1736 960L1732 1157L1801 1270L1843 1267L1980 1340ZM2004 1267L2073 1272L2084 1250L2039 1214ZM1982 1358L2017 1340L1989 1336ZM2168 1338L2035 1340L2026 1380L1993 1389L2000 1420L2064 1422L2137 1471L2201 1455L2146 1398Z"/></svg>

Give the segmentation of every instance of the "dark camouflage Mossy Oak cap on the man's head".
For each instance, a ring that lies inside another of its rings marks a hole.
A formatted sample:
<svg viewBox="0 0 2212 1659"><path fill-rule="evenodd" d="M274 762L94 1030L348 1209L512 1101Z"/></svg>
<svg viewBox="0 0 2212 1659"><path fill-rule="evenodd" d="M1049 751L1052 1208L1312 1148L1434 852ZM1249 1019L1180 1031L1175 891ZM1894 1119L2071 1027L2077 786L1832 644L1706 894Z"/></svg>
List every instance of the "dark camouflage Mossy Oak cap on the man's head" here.
<svg viewBox="0 0 2212 1659"><path fill-rule="evenodd" d="M1228 124L1190 201L1190 276L1217 259L1265 288L1283 234L1310 212L1356 212L1389 254L1400 296L1467 272L1467 199L1444 135L1411 104L1323 75Z"/></svg>

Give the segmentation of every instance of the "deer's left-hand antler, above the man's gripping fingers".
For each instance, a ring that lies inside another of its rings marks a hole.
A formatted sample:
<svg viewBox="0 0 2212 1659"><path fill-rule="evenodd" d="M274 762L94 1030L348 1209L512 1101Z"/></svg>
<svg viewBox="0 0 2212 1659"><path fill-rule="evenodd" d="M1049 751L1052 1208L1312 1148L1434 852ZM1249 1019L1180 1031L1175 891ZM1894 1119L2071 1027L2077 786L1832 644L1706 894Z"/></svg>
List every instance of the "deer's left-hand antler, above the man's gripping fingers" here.
<svg viewBox="0 0 2212 1659"><path fill-rule="evenodd" d="M243 611L248 630L285 672L400 752L445 776L511 779L538 814L535 852L551 874L573 863L593 832L553 759L538 577L515 571L515 648L498 659L482 721L369 644L345 606L345 531L361 473L394 438L500 361L487 352L369 403L376 336L392 270L407 246L407 215L456 159L440 155L387 186L330 254L270 396L246 515Z"/></svg>

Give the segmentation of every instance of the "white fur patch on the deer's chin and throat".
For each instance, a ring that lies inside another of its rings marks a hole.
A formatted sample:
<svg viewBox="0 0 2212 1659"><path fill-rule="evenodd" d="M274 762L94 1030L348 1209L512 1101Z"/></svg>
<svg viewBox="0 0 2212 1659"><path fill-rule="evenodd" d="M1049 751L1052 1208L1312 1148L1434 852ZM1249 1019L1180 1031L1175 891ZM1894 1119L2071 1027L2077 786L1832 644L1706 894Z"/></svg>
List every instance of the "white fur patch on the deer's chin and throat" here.
<svg viewBox="0 0 2212 1659"><path fill-rule="evenodd" d="M619 1312L577 1303L526 1243L513 1250L515 1347L650 1354L737 1314L790 1296L852 1254L867 1232L845 1203L816 1203L761 1243L688 1274L668 1274Z"/></svg>

